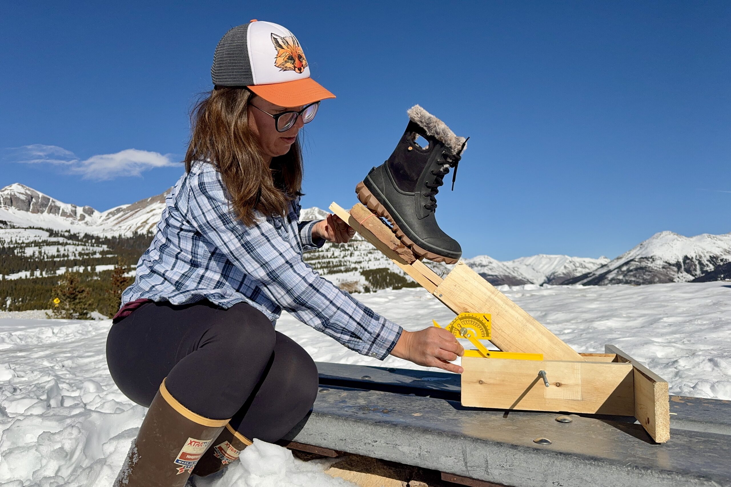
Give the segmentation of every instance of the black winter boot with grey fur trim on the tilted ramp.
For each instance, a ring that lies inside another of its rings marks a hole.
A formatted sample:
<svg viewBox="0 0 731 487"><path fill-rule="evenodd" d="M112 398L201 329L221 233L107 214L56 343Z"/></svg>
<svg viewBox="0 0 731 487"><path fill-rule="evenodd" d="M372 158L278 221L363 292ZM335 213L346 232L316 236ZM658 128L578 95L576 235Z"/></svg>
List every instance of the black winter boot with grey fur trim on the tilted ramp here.
<svg viewBox="0 0 731 487"><path fill-rule="evenodd" d="M436 223L436 193L450 167L452 189L457 164L467 139L457 137L447 125L419 105L409 108L409 125L385 163L371 169L355 187L368 210L387 218L396 237L418 257L455 264L462 256L459 243ZM420 135L428 140L419 147Z"/></svg>

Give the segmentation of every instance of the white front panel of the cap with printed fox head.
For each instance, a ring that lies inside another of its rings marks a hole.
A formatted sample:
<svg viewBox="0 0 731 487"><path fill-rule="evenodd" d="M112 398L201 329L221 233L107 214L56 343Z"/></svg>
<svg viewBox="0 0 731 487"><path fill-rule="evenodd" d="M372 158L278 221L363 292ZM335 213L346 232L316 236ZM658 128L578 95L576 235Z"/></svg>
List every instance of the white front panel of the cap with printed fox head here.
<svg viewBox="0 0 731 487"><path fill-rule="evenodd" d="M254 85L286 83L310 77L300 42L276 23L257 21L247 31Z"/></svg>

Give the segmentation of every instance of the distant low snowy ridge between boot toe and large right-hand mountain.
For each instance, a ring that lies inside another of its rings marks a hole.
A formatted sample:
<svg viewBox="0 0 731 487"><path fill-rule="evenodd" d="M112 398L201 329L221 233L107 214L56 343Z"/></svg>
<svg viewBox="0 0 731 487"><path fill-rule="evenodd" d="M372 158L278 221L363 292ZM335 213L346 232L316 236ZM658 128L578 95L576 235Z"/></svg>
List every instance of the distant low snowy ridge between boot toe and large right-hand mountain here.
<svg viewBox="0 0 731 487"><path fill-rule="evenodd" d="M474 269L493 285L561 284L579 275L591 272L607 264L606 257L569 257L538 254L520 257L512 261L496 261L490 256L465 259Z"/></svg>

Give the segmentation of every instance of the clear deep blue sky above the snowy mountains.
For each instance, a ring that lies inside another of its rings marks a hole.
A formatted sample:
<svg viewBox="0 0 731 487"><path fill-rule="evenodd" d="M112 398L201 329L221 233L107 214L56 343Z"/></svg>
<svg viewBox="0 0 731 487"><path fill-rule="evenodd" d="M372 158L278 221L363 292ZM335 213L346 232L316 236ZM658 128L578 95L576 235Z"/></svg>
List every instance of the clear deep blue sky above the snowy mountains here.
<svg viewBox="0 0 731 487"><path fill-rule="evenodd" d="M6 2L0 186L97 210L162 193L216 42L251 18L338 96L306 127L305 207L355 204L418 103L471 137L437 210L464 256L731 231L727 1ZM132 149L157 155L120 170Z"/></svg>

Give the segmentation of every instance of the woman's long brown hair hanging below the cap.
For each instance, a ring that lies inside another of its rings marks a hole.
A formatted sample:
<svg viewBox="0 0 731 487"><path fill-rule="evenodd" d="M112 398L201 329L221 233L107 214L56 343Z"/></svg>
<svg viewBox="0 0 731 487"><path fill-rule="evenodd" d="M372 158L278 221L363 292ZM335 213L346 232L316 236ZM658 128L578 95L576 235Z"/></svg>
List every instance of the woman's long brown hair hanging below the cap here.
<svg viewBox="0 0 731 487"><path fill-rule="evenodd" d="M221 173L236 217L254 225L254 210L264 215L287 215L292 199L302 196L300 140L284 156L267 165L257 137L249 129L246 88L216 87L204 93L191 112L192 134L185 169L193 161L210 162Z"/></svg>

